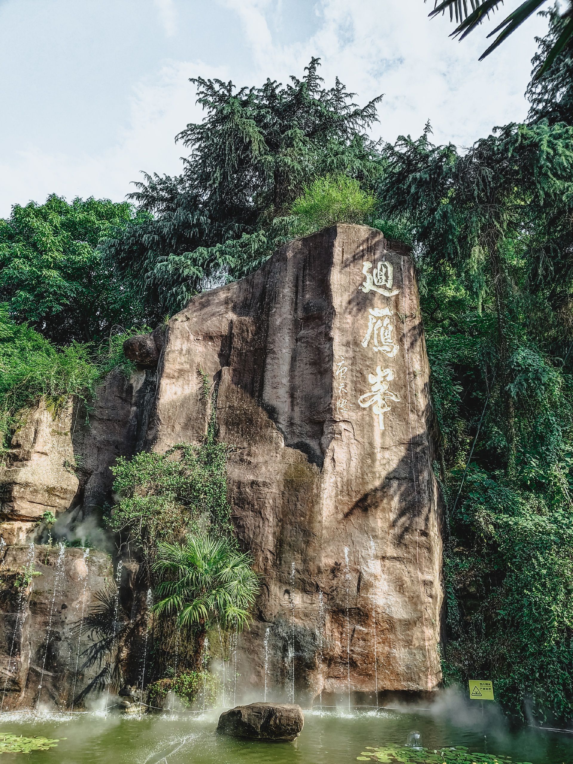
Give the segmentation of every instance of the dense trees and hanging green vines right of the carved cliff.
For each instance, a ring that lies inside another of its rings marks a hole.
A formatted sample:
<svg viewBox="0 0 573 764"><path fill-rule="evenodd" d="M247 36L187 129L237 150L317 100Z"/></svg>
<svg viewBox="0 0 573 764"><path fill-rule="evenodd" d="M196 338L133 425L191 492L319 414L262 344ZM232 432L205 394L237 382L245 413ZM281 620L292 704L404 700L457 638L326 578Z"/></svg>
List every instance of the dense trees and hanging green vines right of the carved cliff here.
<svg viewBox="0 0 573 764"><path fill-rule="evenodd" d="M567 720L573 131L507 125L458 154L427 128L385 153L380 210L413 231L439 425L445 676Z"/></svg>

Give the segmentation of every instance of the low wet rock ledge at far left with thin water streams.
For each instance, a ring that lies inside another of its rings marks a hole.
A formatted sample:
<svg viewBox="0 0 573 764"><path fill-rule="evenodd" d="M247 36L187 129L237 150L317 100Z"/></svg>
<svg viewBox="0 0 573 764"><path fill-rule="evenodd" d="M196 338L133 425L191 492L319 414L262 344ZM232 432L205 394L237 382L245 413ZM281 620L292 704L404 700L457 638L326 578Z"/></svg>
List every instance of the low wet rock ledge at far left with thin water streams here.
<svg viewBox="0 0 573 764"><path fill-rule="evenodd" d="M103 552L9 546L0 561L0 707L80 707L101 690L99 648L85 619L113 580ZM80 629L80 626L83 628ZM86 650L93 652L88 662ZM76 665L78 672L76 673Z"/></svg>

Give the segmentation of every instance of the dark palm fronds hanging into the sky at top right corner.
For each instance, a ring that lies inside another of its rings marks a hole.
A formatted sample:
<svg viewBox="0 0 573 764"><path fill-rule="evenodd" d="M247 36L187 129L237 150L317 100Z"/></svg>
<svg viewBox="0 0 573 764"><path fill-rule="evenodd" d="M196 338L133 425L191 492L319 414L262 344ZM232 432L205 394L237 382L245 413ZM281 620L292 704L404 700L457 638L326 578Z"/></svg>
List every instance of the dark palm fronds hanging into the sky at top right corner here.
<svg viewBox="0 0 573 764"><path fill-rule="evenodd" d="M504 18L501 24L498 24L494 31L487 35L487 37L493 37L494 34L499 32L490 47L481 54L480 61L489 56L492 50L495 50L498 45L503 43L503 40L506 40L510 34L516 31L523 24L523 21L526 21L526 18L529 18L542 5L545 5L545 2L547 0L525 0L525 2L520 3L515 11ZM471 5L471 8L468 7L469 5ZM496 11L500 5L503 5L503 0L469 0L469 2L468 0L434 0L434 10L429 15L432 17L445 13L448 10L450 18L453 20L455 17L456 24L458 24L451 36L459 37L460 40L463 40L464 37L467 37L471 31L478 27L478 24L484 21L484 17L489 17L490 12ZM536 72L535 76L537 79L545 74L558 54L565 49L565 46L573 37L573 3L571 3L571 0L568 2L568 8L563 14L563 18L566 21L561 34L558 35L555 44L547 53L544 63Z"/></svg>

